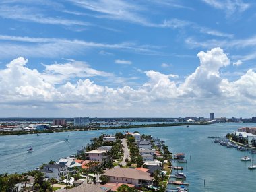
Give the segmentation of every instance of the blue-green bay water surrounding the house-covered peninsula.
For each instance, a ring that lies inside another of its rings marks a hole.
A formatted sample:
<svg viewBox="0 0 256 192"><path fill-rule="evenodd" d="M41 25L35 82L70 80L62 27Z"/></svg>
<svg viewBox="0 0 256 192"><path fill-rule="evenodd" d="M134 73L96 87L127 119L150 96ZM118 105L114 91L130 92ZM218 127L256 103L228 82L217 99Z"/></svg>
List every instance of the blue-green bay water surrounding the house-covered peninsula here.
<svg viewBox="0 0 256 192"><path fill-rule="evenodd" d="M153 127L129 129L129 131L139 131L164 139L171 152L184 152L187 165L182 166L185 167L184 172L190 183L189 191L249 192L256 190L256 170L248 170L251 162L241 162L240 158L245 155L251 156L251 154L220 146L207 138L224 136L244 126L251 127L255 124L218 123L191 125L189 128L185 126ZM76 150L90 142L91 137L96 137L102 132L112 134L116 131L123 131L123 129L0 137L0 174L32 170L50 160L75 154ZM68 142L64 141L66 138L69 139ZM26 152L29 146L34 148L34 152ZM191 156L190 160L189 156Z"/></svg>

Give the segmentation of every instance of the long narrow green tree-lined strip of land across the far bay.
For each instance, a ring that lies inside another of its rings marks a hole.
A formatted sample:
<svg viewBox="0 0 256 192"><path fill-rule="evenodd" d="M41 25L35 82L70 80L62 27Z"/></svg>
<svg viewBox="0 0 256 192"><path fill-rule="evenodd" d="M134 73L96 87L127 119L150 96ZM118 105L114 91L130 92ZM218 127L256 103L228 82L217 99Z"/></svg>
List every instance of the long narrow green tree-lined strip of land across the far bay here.
<svg viewBox="0 0 256 192"><path fill-rule="evenodd" d="M156 123L156 124L141 124L141 125L127 125L127 126L108 126L108 127L84 127L81 129L61 129L61 130L44 130L44 131L17 131L17 132L0 132L0 136L7 135L30 135L42 133L61 133L69 131L95 131L95 130L108 130L108 129L133 129L133 128L152 128L152 127L174 127L174 126L187 126L187 125L210 125L210 123Z"/></svg>

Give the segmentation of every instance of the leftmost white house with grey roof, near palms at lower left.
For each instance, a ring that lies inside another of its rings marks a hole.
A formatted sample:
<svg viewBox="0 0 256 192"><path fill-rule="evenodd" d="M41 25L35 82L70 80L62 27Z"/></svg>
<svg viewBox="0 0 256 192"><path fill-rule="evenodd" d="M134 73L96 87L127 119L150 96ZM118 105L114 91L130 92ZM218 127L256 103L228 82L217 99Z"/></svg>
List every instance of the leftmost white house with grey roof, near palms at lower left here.
<svg viewBox="0 0 256 192"><path fill-rule="evenodd" d="M68 170L67 166L63 164L46 164L43 169L39 170L47 178L61 179L61 176L66 177Z"/></svg>

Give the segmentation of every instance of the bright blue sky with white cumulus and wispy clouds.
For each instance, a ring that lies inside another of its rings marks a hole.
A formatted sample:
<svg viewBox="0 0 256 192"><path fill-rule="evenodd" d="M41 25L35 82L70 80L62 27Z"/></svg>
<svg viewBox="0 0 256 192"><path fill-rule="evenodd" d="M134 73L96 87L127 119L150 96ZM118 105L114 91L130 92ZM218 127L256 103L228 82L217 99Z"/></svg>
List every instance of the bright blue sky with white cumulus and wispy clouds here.
<svg viewBox="0 0 256 192"><path fill-rule="evenodd" d="M1 117L252 117L255 1L0 2Z"/></svg>

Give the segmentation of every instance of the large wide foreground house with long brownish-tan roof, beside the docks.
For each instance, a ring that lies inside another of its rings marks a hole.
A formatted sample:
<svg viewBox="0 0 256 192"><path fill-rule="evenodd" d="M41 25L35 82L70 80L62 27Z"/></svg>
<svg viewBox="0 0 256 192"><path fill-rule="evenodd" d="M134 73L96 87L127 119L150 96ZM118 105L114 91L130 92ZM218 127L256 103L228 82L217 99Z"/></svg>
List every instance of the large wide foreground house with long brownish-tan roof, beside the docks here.
<svg viewBox="0 0 256 192"><path fill-rule="evenodd" d="M105 170L103 175L108 177L110 183L129 183L136 187L148 187L154 179L150 173L133 168L113 168Z"/></svg>

